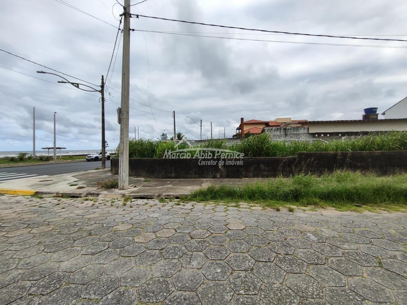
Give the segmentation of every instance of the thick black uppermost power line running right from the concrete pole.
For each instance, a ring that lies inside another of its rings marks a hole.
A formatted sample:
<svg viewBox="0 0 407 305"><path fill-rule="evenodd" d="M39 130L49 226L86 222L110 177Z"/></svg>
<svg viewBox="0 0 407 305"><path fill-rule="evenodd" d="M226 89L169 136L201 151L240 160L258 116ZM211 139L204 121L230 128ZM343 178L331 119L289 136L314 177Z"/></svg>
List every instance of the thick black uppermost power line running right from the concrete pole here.
<svg viewBox="0 0 407 305"><path fill-rule="evenodd" d="M146 18L153 18L153 19L160 19L160 20L167 20L167 21L175 21L175 22L183 22L183 23L191 23L191 24L200 24L200 25L206 25L206 26L217 26L217 27L220 27L220 28L235 28L235 29L239 29L239 30L250 30L250 31L267 32L267 33L280 33L280 34L289 34L289 35L304 35L304 36L315 36L315 37L349 38L349 39L367 39L367 40L385 40L385 41L407 41L405 39L351 37L351 36L335 36L335 35L322 35L322 34L307 34L307 33L292 33L292 32L283 32L283 31L259 30L259 29L255 29L255 28L242 28L242 27L239 27L239 26L223 26L223 25L219 25L219 24L208 24L208 23L202 23L202 22L168 19L168 18L153 17L153 16L146 16L146 15L139 15L139 14L131 14L131 17L136 17L136 18L138 18L138 17L146 17Z"/></svg>

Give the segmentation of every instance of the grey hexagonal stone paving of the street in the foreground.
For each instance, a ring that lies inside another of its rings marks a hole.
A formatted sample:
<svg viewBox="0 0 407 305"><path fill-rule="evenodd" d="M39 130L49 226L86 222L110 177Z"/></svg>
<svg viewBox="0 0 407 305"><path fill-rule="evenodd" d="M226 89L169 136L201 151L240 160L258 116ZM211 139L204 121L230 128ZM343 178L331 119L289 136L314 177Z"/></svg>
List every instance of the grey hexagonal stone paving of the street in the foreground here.
<svg viewBox="0 0 407 305"><path fill-rule="evenodd" d="M0 196L0 305L407 303L407 214Z"/></svg>

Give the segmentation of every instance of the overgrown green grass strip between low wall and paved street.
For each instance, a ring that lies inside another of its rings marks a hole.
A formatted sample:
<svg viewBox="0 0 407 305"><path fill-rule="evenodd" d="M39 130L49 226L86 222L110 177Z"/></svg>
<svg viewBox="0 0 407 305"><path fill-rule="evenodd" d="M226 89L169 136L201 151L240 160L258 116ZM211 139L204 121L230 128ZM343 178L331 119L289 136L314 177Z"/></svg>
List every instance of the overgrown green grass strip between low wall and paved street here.
<svg viewBox="0 0 407 305"><path fill-rule="evenodd" d="M337 171L316 176L298 174L242 185L211 185L181 198L184 201L258 203L279 208L285 205L335 207L339 210L407 209L407 174L376 176Z"/></svg>

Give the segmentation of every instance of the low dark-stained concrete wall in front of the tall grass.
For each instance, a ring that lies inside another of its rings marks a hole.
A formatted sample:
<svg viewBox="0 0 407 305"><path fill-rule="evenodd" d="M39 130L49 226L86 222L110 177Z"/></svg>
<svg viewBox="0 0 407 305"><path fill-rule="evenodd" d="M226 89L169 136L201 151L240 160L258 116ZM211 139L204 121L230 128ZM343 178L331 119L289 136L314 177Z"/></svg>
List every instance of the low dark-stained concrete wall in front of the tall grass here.
<svg viewBox="0 0 407 305"><path fill-rule="evenodd" d="M118 159L111 160L112 173L118 174ZM321 174L337 169L382 175L407 172L407 151L298 153L297 157L243 159L129 159L130 176L156 179L267 178L299 172Z"/></svg>

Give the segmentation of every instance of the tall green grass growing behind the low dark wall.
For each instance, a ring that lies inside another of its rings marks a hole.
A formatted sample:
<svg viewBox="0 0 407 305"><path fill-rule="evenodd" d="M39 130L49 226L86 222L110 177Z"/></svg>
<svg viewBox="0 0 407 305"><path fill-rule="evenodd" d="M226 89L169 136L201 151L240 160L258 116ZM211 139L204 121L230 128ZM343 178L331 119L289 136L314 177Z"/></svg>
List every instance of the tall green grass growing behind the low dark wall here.
<svg viewBox="0 0 407 305"><path fill-rule="evenodd" d="M176 142L138 139L129 142L130 158L162 158L165 150L189 148L188 144ZM242 142L228 145L223 139L208 140L193 148L229 149L244 153L245 157L290 157L299 152L319 151L375 151L375 150L407 150L407 132L394 131L389 133L371 134L366 137L332 141L272 141L265 133L252 135ZM195 152L192 151L191 154Z"/></svg>

